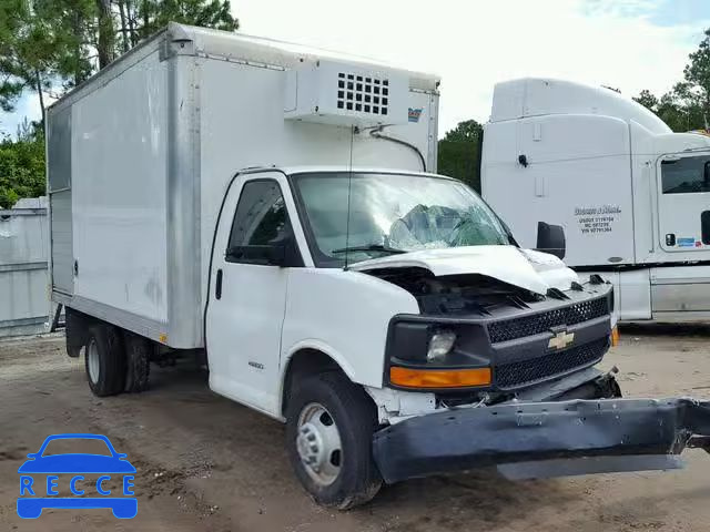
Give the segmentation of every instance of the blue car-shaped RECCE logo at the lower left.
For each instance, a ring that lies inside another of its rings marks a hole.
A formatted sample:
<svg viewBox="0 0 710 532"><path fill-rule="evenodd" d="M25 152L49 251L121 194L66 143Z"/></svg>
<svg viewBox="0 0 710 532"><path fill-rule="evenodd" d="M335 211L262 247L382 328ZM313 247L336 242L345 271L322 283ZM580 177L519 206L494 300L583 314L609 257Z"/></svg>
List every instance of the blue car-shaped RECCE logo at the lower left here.
<svg viewBox="0 0 710 532"><path fill-rule="evenodd" d="M55 440L99 440L103 441L109 454L61 453L45 454L47 446ZM138 513L138 499L133 495L133 474L123 453L113 449L111 441L101 434L54 434L44 440L40 450L27 456L29 459L20 469L20 497L18 515L22 519L37 519L45 508L60 509L111 509L119 519L132 519ZM42 478L37 477L41 474ZM43 475L47 474L45 482ZM69 489L73 497L58 497L59 475L70 474ZM87 480L85 474L100 474L95 481ZM111 475L121 478L121 494L110 490L106 483ZM93 492L99 497L93 497ZM84 494L87 494L84 497ZM113 497L112 497L113 495Z"/></svg>

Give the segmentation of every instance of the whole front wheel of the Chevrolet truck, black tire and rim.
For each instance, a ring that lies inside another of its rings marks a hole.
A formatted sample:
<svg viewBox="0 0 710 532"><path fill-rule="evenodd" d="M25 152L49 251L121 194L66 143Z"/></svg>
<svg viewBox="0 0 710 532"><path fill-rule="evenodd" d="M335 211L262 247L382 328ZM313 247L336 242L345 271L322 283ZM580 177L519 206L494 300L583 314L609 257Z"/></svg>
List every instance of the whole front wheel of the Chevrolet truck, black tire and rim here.
<svg viewBox="0 0 710 532"><path fill-rule="evenodd" d="M372 454L377 428L372 399L341 372L307 376L294 380L293 386L286 412L286 449L296 477L324 507L347 510L369 501L382 487ZM337 447L333 444L333 426L339 437L337 451L333 450Z"/></svg>

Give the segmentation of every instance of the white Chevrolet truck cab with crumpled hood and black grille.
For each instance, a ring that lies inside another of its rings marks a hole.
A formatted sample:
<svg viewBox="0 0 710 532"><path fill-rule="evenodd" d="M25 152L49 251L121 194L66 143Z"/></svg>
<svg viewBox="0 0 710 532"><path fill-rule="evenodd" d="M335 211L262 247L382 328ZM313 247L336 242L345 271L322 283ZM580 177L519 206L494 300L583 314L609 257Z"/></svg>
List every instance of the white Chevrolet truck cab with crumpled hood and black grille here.
<svg viewBox="0 0 710 532"><path fill-rule="evenodd" d="M417 398L422 411L436 409L436 392L446 389L457 402L484 392L513 397L602 358L611 294L601 282L580 284L551 255L519 249L455 180L368 168L250 170L230 184L214 237L210 385L283 418L284 376L293 360L318 352L377 397L387 385L426 391ZM549 314L558 307L559 316ZM549 316L535 325L538 313ZM550 327L570 339L552 349L554 364L542 364L549 338L529 337ZM402 415L378 407L382 422Z"/></svg>

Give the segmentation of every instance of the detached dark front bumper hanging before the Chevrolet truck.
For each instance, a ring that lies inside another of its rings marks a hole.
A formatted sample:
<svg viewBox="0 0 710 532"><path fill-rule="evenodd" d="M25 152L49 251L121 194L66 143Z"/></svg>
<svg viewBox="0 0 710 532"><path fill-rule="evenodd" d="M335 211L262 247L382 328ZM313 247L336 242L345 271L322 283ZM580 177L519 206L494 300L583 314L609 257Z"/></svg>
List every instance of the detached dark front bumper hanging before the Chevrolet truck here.
<svg viewBox="0 0 710 532"><path fill-rule="evenodd" d="M710 401L595 399L450 409L379 430L388 483L497 466L508 478L678 469L686 447L710 452Z"/></svg>

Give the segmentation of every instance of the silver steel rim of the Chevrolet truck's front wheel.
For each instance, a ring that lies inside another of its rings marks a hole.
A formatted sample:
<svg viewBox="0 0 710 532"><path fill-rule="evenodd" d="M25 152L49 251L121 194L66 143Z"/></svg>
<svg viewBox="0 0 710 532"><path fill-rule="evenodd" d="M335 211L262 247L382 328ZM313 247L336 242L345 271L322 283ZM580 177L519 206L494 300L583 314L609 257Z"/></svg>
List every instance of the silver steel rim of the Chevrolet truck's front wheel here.
<svg viewBox="0 0 710 532"><path fill-rule="evenodd" d="M343 463L343 446L335 419L323 405L312 402L301 410L296 449L303 468L318 485L335 482Z"/></svg>

